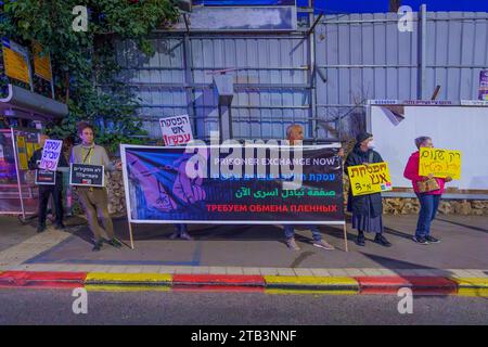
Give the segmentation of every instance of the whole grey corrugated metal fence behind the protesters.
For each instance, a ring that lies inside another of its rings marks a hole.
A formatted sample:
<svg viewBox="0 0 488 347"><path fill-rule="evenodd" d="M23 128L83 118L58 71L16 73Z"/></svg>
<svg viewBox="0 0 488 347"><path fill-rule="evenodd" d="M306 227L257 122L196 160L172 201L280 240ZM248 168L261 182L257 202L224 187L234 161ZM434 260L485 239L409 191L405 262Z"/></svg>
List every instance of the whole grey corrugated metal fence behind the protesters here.
<svg viewBox="0 0 488 347"><path fill-rule="evenodd" d="M438 100L477 99L479 72L488 68L488 13L420 11L412 31L399 31L398 20L326 15L310 35L157 31L153 57L129 41L118 55L152 138L160 136L158 118L178 114L208 138L218 129L211 74L233 69L234 138L281 139L298 123L307 141L343 140L364 126L368 99L431 99L437 85Z"/></svg>

